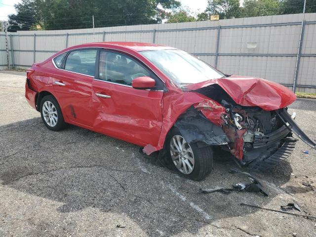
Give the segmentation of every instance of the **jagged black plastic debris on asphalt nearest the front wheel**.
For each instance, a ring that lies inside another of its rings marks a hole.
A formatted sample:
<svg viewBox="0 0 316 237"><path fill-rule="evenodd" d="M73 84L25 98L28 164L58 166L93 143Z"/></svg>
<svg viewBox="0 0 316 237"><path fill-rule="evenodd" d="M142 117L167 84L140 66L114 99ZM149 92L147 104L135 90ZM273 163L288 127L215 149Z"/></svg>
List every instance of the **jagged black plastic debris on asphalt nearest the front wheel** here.
<svg viewBox="0 0 316 237"><path fill-rule="evenodd" d="M257 178L255 178L254 176L252 176L249 173L245 173L245 172L241 172L237 169L230 169L229 171L230 173L240 173L240 174L244 174L247 175L247 177L249 178L249 180L251 181L251 183L249 184L236 184L236 185L232 185L233 188L223 188L223 187L215 187L214 189L199 189L200 193L203 194L210 194L210 193L214 193L214 192L220 192L220 193L224 193L224 194L229 194L231 191L246 191L246 192L254 192L254 193L259 193L261 192L262 194L264 194L265 196L268 196L268 193L264 190L264 188L262 187L261 183L258 181Z"/></svg>

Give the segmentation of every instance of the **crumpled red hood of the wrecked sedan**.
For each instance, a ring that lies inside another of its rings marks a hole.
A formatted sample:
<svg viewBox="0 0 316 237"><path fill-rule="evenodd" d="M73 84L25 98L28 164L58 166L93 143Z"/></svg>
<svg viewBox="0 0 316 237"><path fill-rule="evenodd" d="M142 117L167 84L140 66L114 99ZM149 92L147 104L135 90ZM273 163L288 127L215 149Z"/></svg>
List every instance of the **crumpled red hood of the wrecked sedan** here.
<svg viewBox="0 0 316 237"><path fill-rule="evenodd" d="M267 111L284 108L296 100L292 91L276 82L236 75L190 84L185 88L196 90L212 84L221 86L238 105L258 106Z"/></svg>

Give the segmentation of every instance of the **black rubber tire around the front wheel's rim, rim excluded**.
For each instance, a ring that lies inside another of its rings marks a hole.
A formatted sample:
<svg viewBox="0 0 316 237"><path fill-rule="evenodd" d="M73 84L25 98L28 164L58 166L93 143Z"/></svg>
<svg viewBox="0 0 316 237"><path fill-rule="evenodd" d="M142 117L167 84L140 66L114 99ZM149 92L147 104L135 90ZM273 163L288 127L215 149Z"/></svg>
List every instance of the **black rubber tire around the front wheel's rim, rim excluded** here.
<svg viewBox="0 0 316 237"><path fill-rule="evenodd" d="M213 168L213 150L212 147L206 146L206 147L197 147L196 143L190 143L190 147L193 151L194 155L194 168L193 171L190 174L184 174L182 173L174 164L171 158L170 154L170 141L172 137L175 135L181 135L180 131L177 128L172 128L170 132L168 133L165 141L165 154L167 157L167 160L170 162L170 166L177 171L182 176L195 180L200 181L204 179L212 170Z"/></svg>

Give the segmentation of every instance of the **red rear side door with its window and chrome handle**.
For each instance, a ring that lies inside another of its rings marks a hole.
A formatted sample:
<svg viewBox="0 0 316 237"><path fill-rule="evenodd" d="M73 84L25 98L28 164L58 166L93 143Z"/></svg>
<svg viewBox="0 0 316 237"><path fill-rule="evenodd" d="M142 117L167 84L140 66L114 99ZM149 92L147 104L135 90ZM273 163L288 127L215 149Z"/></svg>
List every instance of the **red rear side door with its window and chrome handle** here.
<svg viewBox="0 0 316 237"><path fill-rule="evenodd" d="M66 120L92 125L91 91L96 55L95 48L76 49L68 52L62 62L55 61L57 70L52 83Z"/></svg>

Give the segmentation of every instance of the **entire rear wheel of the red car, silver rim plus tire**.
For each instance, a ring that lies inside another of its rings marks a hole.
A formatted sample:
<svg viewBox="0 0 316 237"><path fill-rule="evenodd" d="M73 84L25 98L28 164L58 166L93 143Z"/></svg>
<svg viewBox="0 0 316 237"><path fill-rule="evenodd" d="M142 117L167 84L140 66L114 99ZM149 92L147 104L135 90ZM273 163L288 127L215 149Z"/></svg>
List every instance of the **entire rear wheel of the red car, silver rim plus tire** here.
<svg viewBox="0 0 316 237"><path fill-rule="evenodd" d="M46 95L40 101L40 116L45 126L52 131L59 131L65 127L59 104L52 95Z"/></svg>

